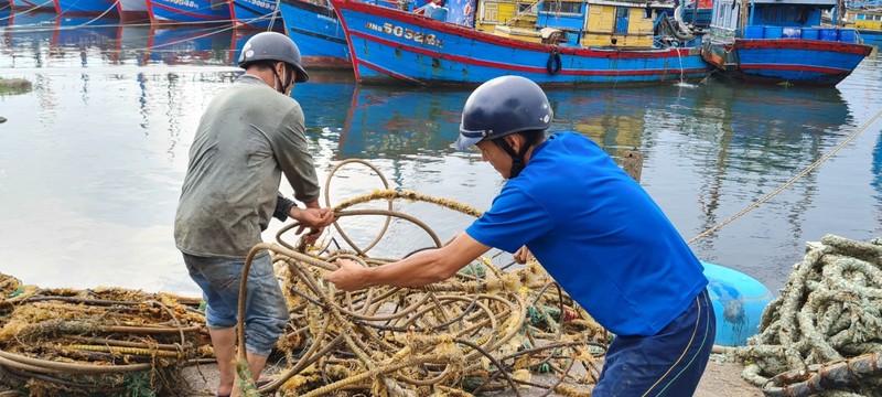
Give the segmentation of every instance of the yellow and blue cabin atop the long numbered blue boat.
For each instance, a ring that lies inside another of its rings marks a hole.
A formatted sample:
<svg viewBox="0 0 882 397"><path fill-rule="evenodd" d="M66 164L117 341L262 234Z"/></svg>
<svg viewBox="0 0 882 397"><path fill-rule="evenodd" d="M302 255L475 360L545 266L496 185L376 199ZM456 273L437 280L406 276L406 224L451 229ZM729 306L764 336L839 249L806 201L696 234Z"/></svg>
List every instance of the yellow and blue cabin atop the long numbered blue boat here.
<svg viewBox="0 0 882 397"><path fill-rule="evenodd" d="M652 49L684 46L695 39L674 21L671 2L484 0L477 11L480 30L536 43Z"/></svg>

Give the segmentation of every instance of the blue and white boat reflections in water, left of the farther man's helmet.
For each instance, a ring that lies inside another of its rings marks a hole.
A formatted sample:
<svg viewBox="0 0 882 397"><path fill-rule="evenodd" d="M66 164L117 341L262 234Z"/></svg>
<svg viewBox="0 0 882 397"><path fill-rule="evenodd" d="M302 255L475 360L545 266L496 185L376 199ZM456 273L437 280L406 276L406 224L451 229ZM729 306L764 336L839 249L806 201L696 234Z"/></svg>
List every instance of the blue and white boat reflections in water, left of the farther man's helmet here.
<svg viewBox="0 0 882 397"><path fill-rule="evenodd" d="M0 67L233 66L255 30L233 26L152 26L120 24L94 17L51 12L0 13L3 54ZM77 64L78 63L78 64Z"/></svg>

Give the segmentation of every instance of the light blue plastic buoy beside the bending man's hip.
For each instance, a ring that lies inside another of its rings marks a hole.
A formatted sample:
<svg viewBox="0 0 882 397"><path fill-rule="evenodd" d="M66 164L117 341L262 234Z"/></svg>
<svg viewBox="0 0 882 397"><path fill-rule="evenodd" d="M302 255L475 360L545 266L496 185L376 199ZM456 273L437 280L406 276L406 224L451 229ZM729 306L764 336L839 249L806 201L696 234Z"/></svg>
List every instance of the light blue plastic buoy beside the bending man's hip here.
<svg viewBox="0 0 882 397"><path fill-rule="evenodd" d="M753 277L702 261L708 294L717 314L717 340L722 346L744 346L760 331L760 319L774 296Z"/></svg>

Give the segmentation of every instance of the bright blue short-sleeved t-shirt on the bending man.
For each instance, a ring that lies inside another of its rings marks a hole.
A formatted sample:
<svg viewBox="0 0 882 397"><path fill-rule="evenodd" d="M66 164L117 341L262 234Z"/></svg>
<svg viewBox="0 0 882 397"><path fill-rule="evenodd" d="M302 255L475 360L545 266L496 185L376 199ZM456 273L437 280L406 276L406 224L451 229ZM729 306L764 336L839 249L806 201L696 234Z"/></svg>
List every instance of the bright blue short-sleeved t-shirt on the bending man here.
<svg viewBox="0 0 882 397"><path fill-rule="evenodd" d="M601 325L655 335L708 285L662 208L600 147L556 133L534 149L466 230L514 253L526 245Z"/></svg>

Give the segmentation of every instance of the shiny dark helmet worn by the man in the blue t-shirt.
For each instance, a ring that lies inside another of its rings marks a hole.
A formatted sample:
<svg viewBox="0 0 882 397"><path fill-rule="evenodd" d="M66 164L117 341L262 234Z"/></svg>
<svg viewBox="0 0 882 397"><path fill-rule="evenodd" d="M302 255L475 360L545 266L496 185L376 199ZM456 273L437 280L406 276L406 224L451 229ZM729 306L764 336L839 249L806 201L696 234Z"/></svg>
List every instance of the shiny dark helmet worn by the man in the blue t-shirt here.
<svg viewBox="0 0 882 397"><path fill-rule="evenodd" d="M520 76L502 76L475 88L462 109L456 149L514 132L545 130L553 111L542 88Z"/></svg>

